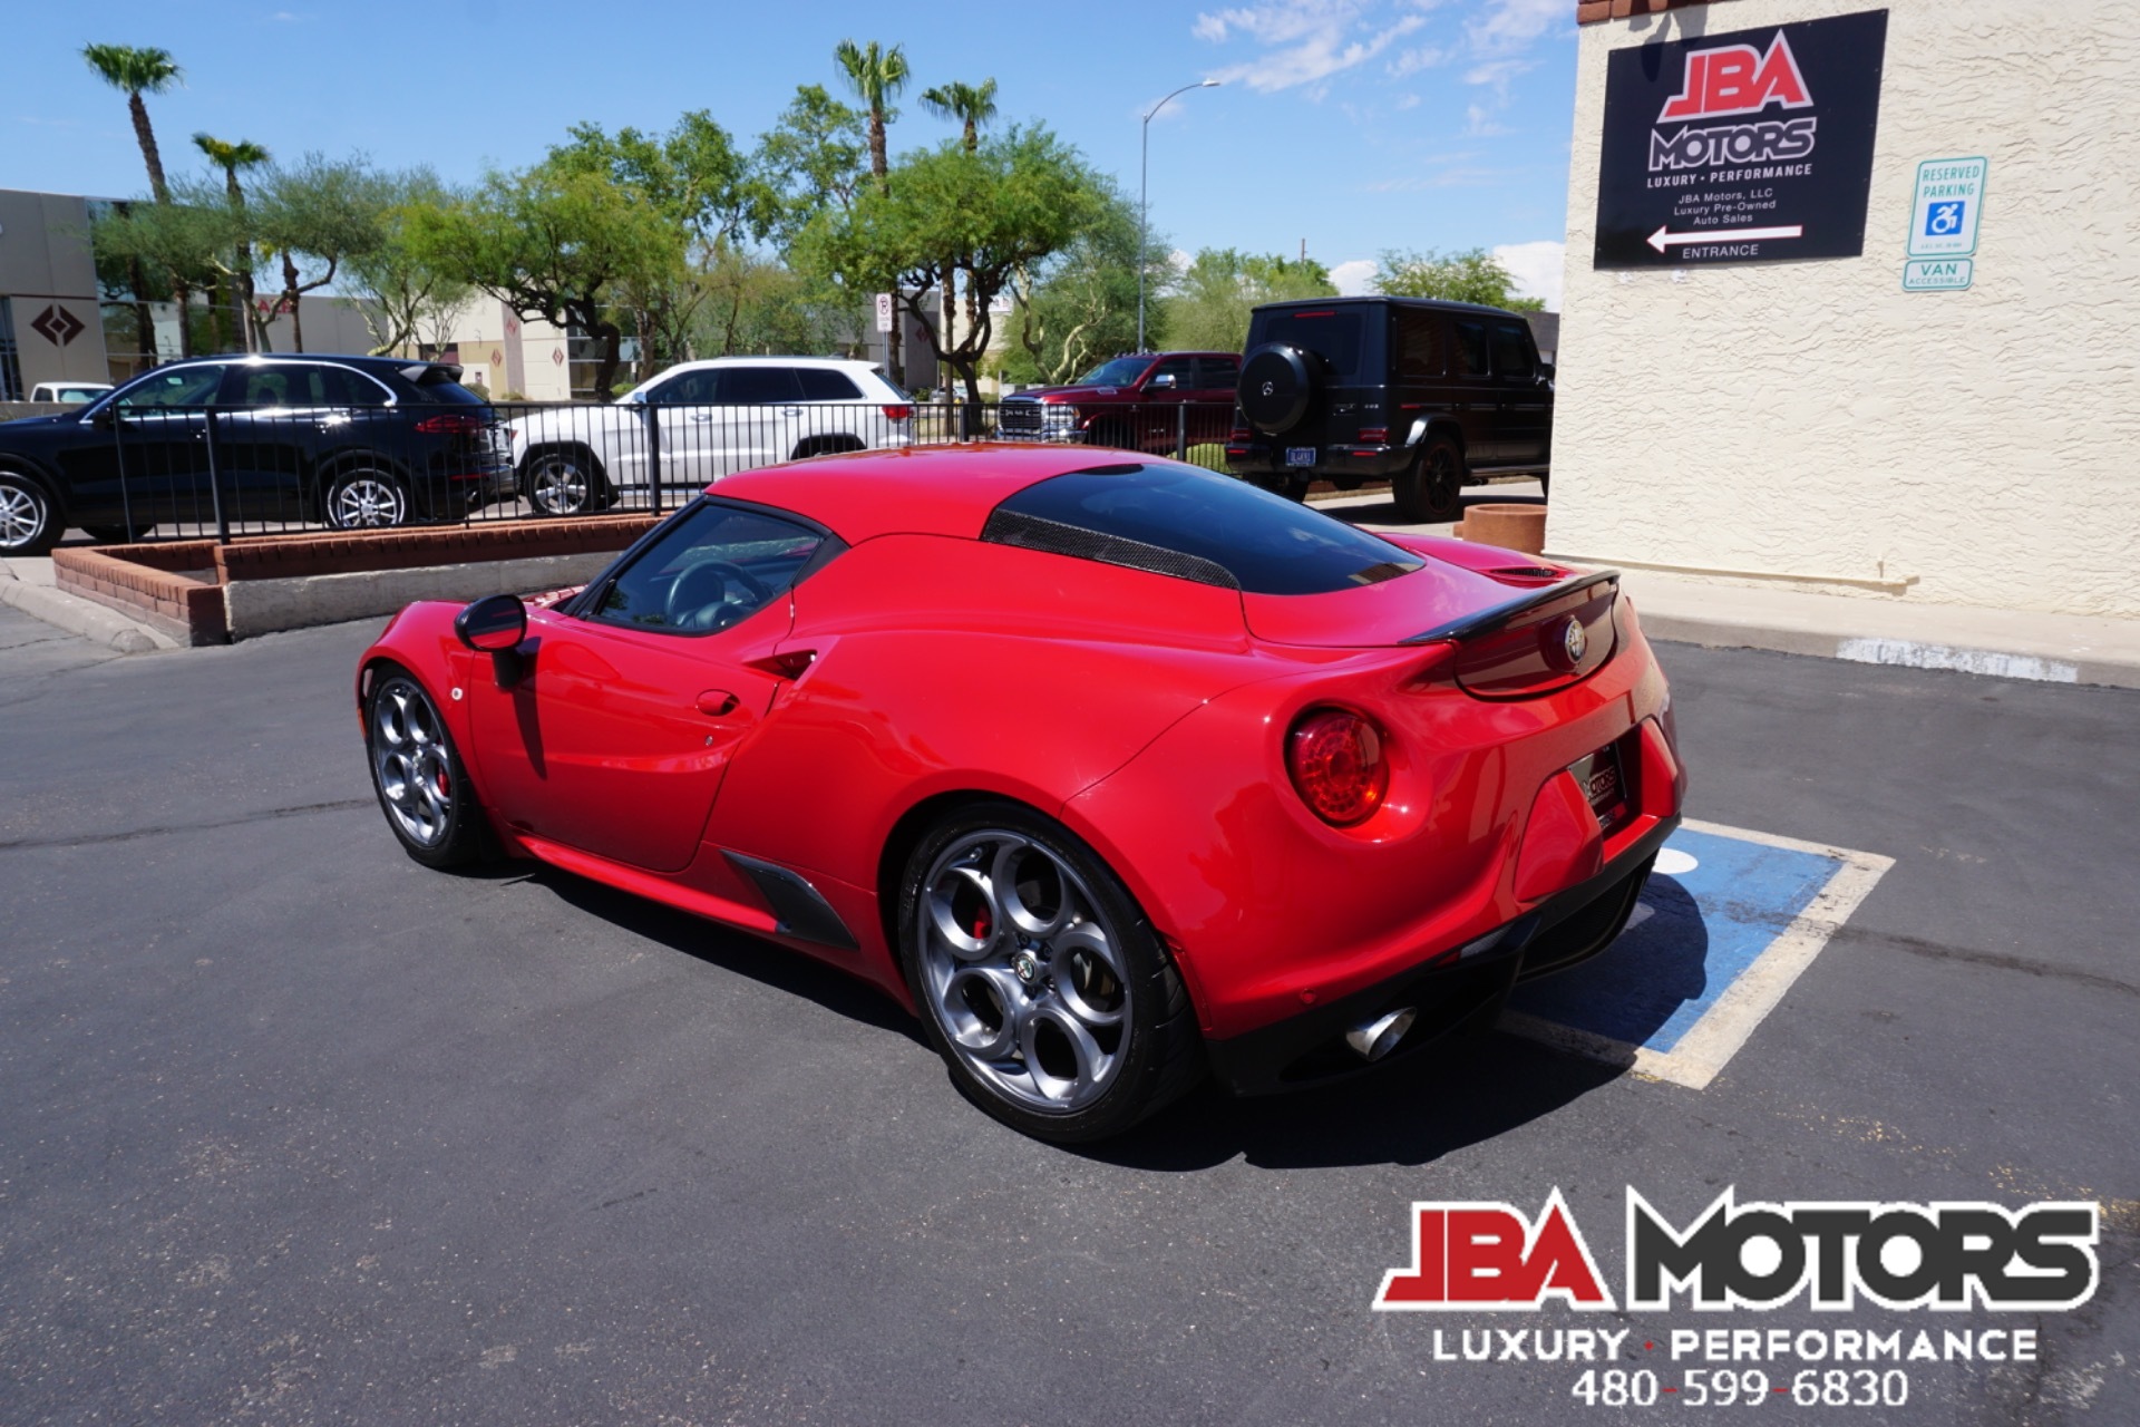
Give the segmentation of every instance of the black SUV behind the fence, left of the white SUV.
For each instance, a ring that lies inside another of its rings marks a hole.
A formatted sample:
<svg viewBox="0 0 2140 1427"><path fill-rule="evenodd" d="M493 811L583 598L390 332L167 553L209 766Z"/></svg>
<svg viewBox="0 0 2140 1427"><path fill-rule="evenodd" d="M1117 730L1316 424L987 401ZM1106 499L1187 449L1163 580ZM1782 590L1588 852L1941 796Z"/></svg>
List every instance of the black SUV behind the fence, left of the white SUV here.
<svg viewBox="0 0 2140 1427"><path fill-rule="evenodd" d="M396 357L193 357L54 417L0 421L0 554L68 526L396 526L514 498L509 430L460 368Z"/></svg>

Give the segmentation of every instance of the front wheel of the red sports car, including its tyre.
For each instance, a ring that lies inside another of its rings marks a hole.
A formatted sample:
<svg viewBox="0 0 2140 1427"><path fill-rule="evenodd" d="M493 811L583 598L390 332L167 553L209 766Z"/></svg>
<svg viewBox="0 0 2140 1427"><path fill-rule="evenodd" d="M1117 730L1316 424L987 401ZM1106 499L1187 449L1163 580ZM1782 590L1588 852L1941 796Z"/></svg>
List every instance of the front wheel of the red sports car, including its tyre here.
<svg viewBox="0 0 2140 1427"><path fill-rule="evenodd" d="M372 685L364 742L372 789L402 851L437 869L475 862L484 815L439 706L409 674L385 670Z"/></svg>

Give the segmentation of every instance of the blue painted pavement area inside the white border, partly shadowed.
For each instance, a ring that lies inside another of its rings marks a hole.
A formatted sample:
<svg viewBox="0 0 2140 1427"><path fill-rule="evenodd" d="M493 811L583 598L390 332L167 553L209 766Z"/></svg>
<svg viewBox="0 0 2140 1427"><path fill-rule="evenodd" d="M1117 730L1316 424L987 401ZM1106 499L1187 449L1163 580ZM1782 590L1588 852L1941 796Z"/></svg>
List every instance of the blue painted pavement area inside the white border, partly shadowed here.
<svg viewBox="0 0 2140 1427"><path fill-rule="evenodd" d="M1522 986L1509 1008L1624 1046L1680 1038L1847 864L1845 858L1680 828L1629 931L1601 956ZM1673 858L1671 854L1682 854Z"/></svg>

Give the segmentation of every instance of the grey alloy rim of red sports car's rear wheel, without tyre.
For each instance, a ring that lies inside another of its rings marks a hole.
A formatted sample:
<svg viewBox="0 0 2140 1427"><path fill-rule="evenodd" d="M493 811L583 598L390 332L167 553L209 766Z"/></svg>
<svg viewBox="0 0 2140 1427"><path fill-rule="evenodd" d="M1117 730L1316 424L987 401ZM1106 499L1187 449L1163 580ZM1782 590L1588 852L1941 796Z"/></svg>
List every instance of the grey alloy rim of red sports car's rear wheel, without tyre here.
<svg viewBox="0 0 2140 1427"><path fill-rule="evenodd" d="M1004 1100L1068 1115L1121 1072L1130 976L1121 933L1079 873L1004 828L929 864L914 903L927 1014Z"/></svg>

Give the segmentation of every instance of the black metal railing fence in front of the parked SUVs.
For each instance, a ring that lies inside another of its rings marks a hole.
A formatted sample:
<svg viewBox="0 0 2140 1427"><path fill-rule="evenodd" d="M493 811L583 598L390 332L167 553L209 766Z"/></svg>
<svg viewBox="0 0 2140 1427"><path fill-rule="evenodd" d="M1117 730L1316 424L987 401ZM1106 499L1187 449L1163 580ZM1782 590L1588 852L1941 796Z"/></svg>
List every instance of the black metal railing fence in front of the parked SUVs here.
<svg viewBox="0 0 2140 1427"><path fill-rule="evenodd" d="M1224 471L1233 402L796 402L105 411L68 430L68 524L101 541L674 509L832 451L1023 441Z"/></svg>

